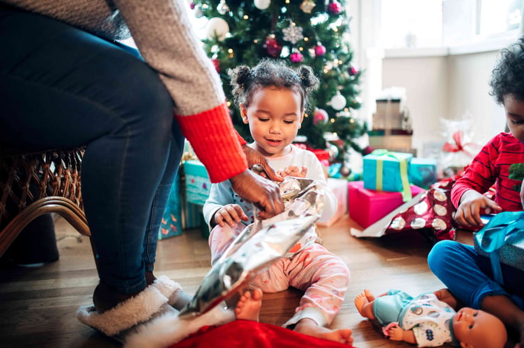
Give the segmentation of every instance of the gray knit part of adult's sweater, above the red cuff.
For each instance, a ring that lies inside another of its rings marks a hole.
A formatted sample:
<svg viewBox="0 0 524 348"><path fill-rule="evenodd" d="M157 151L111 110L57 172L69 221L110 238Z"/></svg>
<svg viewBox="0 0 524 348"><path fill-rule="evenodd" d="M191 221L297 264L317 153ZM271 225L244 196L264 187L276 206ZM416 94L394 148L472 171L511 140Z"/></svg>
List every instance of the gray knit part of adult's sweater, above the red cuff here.
<svg viewBox="0 0 524 348"><path fill-rule="evenodd" d="M225 99L222 84L187 17L185 0L0 2L59 19L110 40L126 38L131 33L140 54L166 84L180 115L211 109Z"/></svg>

